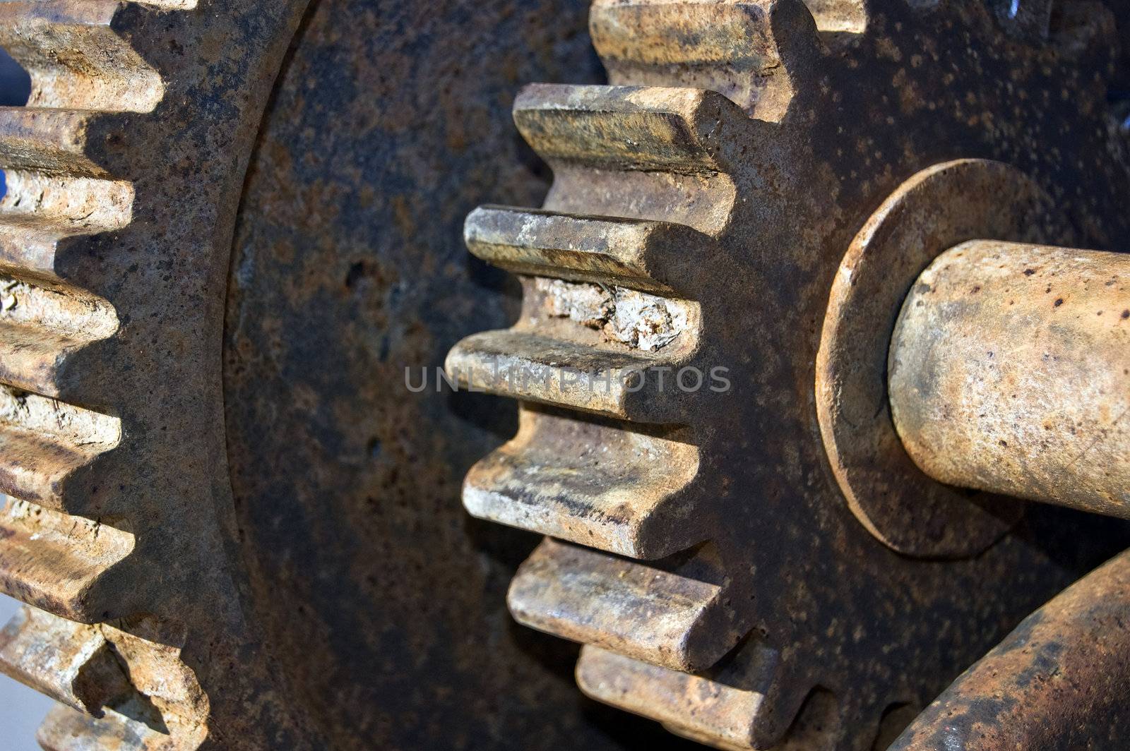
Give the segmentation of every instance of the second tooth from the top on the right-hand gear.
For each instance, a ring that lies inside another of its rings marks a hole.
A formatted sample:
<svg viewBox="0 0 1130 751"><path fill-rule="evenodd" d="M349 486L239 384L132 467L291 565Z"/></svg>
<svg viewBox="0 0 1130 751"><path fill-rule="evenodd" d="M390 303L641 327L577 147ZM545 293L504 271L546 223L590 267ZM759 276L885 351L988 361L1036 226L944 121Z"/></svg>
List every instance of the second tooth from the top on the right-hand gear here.
<svg viewBox="0 0 1130 751"><path fill-rule="evenodd" d="M514 122L550 164L724 173L718 123L729 108L697 89L534 84L514 102Z"/></svg>

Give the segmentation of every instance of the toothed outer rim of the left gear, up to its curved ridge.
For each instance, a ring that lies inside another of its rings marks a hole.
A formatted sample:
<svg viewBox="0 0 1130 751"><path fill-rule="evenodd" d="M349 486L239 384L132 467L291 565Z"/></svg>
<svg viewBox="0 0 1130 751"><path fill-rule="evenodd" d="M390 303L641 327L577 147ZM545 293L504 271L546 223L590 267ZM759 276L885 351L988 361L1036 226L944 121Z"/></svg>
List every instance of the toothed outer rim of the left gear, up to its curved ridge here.
<svg viewBox="0 0 1130 751"><path fill-rule="evenodd" d="M250 143L296 17L195 7L0 6L32 80L26 107L0 111L0 590L27 603L0 669L60 701L40 734L58 751L266 748L296 722L254 698L267 661L240 657L255 637L225 564L224 446L202 437L221 420L202 343L234 216L216 207L241 184L217 151ZM208 41L252 15L240 50ZM209 87L224 116L199 116Z"/></svg>

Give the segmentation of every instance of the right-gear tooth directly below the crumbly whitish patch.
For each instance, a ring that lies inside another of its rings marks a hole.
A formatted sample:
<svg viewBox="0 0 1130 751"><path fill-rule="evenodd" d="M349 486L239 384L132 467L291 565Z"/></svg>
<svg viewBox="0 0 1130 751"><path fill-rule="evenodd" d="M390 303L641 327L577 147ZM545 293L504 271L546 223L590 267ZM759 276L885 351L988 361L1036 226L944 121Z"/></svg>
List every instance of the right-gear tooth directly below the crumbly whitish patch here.
<svg viewBox="0 0 1130 751"><path fill-rule="evenodd" d="M677 361L520 330L472 334L447 353L461 387L636 422L681 422L685 400L646 376ZM636 374L636 375L633 375ZM636 391L633 391L633 390Z"/></svg>

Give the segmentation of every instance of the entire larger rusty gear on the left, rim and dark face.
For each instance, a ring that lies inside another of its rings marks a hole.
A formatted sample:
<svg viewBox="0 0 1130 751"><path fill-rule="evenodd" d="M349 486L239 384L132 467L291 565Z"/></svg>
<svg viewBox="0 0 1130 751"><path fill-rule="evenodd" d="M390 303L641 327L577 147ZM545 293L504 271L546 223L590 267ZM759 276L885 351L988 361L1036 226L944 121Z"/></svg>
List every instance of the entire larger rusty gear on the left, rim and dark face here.
<svg viewBox="0 0 1130 751"><path fill-rule="evenodd" d="M544 190L488 167L513 77L596 77L553 10L0 5L0 666L61 702L45 748L616 745L510 632L532 544L451 503L497 440L392 387L504 321L453 238Z"/></svg>

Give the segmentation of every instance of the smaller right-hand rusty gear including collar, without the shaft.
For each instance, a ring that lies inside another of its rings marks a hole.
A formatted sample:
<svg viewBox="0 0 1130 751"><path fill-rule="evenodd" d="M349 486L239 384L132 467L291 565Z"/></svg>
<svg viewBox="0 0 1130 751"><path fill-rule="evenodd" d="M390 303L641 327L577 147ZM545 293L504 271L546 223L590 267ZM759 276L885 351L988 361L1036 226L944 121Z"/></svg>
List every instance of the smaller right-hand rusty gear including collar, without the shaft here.
<svg viewBox="0 0 1130 751"><path fill-rule="evenodd" d="M589 696L723 749L889 742L1125 547L1119 523L938 484L885 390L922 269L899 251L1124 242L1112 16L597 0L590 28L611 86L515 103L554 171L545 207L468 218L471 252L524 297L447 357L522 402L464 505L549 535L508 603L586 645ZM731 388L676 387L719 366Z"/></svg>

